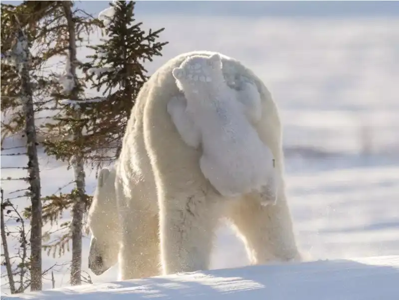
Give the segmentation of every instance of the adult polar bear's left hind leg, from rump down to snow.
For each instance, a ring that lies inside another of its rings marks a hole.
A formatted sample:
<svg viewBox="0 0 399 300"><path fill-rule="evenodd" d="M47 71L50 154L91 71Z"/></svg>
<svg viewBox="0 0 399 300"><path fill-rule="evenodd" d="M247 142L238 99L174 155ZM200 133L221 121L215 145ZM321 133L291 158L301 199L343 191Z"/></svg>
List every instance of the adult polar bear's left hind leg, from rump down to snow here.
<svg viewBox="0 0 399 300"><path fill-rule="evenodd" d="M144 110L145 143L159 205L163 274L208 269L221 202L202 175L200 151L182 140L167 111L173 96L168 88L154 89Z"/></svg>

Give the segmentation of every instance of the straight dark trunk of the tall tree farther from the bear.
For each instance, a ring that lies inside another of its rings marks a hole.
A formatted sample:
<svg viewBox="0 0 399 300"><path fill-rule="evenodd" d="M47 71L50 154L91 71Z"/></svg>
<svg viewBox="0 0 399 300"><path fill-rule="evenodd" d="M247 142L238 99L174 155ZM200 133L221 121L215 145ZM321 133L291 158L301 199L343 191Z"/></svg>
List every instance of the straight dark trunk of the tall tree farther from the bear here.
<svg viewBox="0 0 399 300"><path fill-rule="evenodd" d="M34 110L32 88L29 76L29 48L27 39L22 32L18 33L18 42L22 45L19 75L21 77L21 101L25 116L26 149L28 155L28 180L32 215L30 219L30 276L31 291L41 291L41 194L39 162L37 159L36 127L34 125Z"/></svg>

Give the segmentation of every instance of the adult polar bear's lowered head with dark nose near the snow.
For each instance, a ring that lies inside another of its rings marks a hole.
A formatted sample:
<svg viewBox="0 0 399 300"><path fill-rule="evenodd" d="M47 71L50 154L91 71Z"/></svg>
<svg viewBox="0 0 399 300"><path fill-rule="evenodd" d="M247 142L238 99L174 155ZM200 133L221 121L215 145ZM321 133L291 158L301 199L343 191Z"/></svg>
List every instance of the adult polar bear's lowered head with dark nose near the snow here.
<svg viewBox="0 0 399 300"><path fill-rule="evenodd" d="M118 262L120 226L114 168L104 168L98 175L87 225L91 232L89 269L101 275Z"/></svg>

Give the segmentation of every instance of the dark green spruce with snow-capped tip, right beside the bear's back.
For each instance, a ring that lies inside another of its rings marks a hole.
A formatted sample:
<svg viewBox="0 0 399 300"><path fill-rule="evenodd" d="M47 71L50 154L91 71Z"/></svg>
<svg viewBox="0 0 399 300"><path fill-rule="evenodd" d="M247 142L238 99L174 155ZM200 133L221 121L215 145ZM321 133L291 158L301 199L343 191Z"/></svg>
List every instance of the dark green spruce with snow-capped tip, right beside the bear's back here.
<svg viewBox="0 0 399 300"><path fill-rule="evenodd" d="M84 65L92 88L102 92L102 101L87 105L95 116L88 124L87 151L97 166L119 156L126 124L138 92L147 81L146 61L161 56L168 42L159 42L164 28L145 32L134 15L134 1L113 1L100 13L107 38L90 46L95 53Z"/></svg>

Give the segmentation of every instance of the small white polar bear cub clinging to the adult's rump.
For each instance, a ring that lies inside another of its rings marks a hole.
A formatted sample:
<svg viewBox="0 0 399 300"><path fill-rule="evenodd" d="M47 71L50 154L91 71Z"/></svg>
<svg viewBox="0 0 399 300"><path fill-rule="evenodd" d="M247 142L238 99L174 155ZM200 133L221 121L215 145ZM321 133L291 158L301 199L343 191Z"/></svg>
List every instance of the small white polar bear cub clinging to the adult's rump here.
<svg viewBox="0 0 399 300"><path fill-rule="evenodd" d="M250 123L259 113L256 86L248 82L240 92L231 89L219 54L188 57L172 73L184 96L173 98L168 112L186 144L201 146L203 175L222 196L257 192L262 204L274 204L274 158Z"/></svg>

